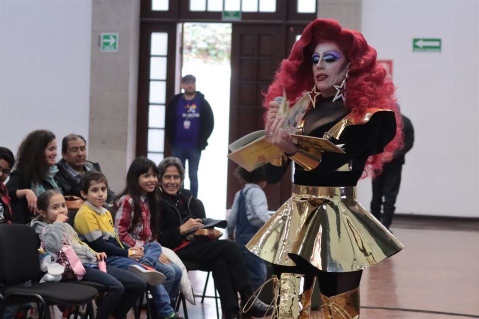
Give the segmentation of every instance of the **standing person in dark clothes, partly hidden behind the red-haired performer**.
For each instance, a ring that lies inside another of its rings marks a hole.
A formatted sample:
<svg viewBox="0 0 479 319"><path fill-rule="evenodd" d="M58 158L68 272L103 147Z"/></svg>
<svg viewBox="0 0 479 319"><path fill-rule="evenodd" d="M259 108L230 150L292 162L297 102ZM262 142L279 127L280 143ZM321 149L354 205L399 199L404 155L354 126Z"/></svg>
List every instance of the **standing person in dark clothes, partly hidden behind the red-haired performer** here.
<svg viewBox="0 0 479 319"><path fill-rule="evenodd" d="M373 199L371 200L371 213L380 220L386 228L391 227L396 207L396 197L401 184L401 171L405 163L405 155L414 144L414 128L411 121L401 114L403 119L404 145L394 154L393 160L385 163L383 172L373 179ZM384 197L384 201L383 201ZM383 214L381 218L381 206Z"/></svg>

